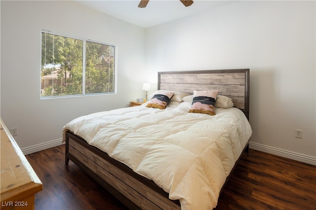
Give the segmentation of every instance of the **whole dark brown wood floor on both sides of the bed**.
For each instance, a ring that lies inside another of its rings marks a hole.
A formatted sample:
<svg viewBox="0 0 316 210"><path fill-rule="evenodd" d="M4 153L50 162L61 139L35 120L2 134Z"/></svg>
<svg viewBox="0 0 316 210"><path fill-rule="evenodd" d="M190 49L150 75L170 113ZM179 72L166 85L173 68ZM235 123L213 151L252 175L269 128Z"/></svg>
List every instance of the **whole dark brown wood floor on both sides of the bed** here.
<svg viewBox="0 0 316 210"><path fill-rule="evenodd" d="M72 161L65 145L26 155L43 183L35 210L125 210ZM219 198L216 210L315 210L316 166L249 150Z"/></svg>

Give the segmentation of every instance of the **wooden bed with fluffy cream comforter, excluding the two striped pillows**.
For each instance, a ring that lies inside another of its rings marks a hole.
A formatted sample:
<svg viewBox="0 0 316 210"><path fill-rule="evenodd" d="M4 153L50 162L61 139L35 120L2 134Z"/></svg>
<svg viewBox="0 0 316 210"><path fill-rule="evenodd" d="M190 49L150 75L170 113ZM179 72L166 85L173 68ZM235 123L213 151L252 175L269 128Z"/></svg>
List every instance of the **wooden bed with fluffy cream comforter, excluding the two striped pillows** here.
<svg viewBox="0 0 316 210"><path fill-rule="evenodd" d="M150 107L161 91L173 92L170 101ZM215 115L192 108L206 92L222 103ZM66 164L72 160L129 209L215 208L252 134L249 69L158 72L155 93L141 106L67 123Z"/></svg>

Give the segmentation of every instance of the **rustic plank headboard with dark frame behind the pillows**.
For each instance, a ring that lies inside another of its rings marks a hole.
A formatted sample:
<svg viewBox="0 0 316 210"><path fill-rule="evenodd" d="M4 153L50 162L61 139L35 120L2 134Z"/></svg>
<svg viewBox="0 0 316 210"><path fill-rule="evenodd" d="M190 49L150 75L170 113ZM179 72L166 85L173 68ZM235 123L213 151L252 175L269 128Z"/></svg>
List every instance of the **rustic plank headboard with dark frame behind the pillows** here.
<svg viewBox="0 0 316 210"><path fill-rule="evenodd" d="M218 90L230 97L249 120L249 69L160 71L158 90L193 94L194 90Z"/></svg>

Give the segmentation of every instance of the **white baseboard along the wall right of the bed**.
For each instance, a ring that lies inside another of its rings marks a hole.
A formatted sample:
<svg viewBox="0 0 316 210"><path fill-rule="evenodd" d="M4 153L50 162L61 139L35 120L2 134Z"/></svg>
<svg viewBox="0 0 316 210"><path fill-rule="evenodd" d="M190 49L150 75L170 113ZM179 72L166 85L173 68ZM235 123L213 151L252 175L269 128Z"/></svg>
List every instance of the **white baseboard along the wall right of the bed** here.
<svg viewBox="0 0 316 210"><path fill-rule="evenodd" d="M281 157L289 158L292 160L297 160L303 163L308 163L316 166L316 157L305 155L297 152L292 152L284 149L279 149L272 146L263 145L260 143L249 142L249 148L259 150L262 152L267 152L270 154L278 155Z"/></svg>

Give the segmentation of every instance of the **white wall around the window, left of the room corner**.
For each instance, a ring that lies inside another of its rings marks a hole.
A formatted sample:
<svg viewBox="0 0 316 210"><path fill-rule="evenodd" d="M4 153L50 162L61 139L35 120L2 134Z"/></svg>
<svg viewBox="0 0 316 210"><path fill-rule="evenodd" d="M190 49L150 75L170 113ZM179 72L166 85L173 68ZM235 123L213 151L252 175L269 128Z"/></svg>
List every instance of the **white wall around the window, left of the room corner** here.
<svg viewBox="0 0 316 210"><path fill-rule="evenodd" d="M71 119L125 107L144 95L143 28L72 1L1 0L0 7L1 118L8 128L18 128L14 138L22 150L59 143ZM42 29L117 44L117 94L40 100Z"/></svg>

